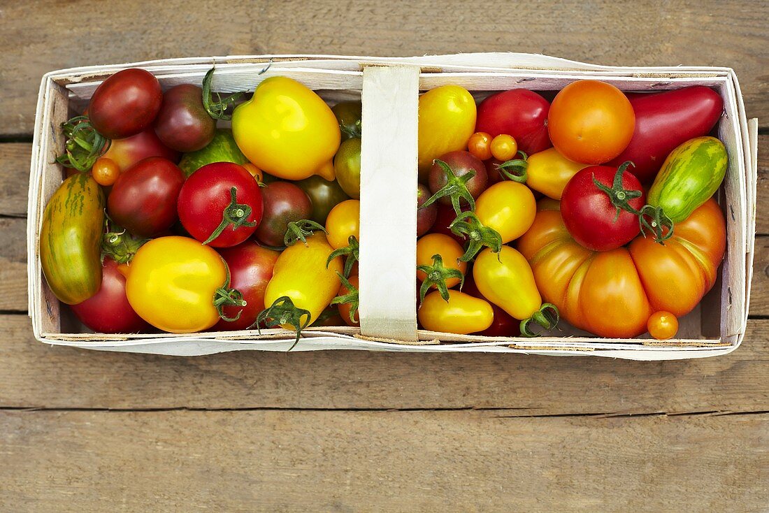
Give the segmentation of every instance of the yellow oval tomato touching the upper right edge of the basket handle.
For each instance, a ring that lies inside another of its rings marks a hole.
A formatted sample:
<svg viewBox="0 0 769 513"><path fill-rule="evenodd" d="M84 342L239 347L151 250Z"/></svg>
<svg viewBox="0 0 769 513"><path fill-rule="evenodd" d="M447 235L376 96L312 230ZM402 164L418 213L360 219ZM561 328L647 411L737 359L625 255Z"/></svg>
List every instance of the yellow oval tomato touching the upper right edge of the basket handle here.
<svg viewBox="0 0 769 513"><path fill-rule="evenodd" d="M441 85L419 98L419 175L430 172L434 159L464 150L475 131L475 100L459 85Z"/></svg>

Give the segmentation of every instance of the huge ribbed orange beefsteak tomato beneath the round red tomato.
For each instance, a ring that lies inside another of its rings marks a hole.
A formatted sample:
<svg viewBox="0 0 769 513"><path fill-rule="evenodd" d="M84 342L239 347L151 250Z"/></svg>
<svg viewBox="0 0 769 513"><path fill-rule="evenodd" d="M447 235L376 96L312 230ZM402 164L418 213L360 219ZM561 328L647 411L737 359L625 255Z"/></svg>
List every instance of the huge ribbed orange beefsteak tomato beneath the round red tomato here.
<svg viewBox="0 0 769 513"><path fill-rule="evenodd" d="M518 239L543 300L571 325L611 338L641 335L654 311L690 312L713 288L725 248L724 215L713 199L677 224L665 245L639 235L628 247L592 252L549 209Z"/></svg>

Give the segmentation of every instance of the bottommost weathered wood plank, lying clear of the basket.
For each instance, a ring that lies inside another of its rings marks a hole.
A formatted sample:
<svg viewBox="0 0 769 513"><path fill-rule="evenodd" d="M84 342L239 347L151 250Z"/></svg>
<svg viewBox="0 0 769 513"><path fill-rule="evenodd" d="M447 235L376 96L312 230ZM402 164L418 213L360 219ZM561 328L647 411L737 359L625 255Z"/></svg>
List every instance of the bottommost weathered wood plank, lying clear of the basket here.
<svg viewBox="0 0 769 513"><path fill-rule="evenodd" d="M0 505L745 513L769 503L767 414L505 415L5 411Z"/></svg>

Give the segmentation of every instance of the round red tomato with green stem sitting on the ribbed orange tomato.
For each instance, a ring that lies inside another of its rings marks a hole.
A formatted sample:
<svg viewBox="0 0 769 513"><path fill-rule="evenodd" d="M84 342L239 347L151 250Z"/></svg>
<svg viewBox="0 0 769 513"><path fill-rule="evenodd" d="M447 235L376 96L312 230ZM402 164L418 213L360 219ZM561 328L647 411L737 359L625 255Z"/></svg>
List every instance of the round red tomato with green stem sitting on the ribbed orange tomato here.
<svg viewBox="0 0 769 513"><path fill-rule="evenodd" d="M611 189L611 195L598 188L593 179ZM638 215L622 206L638 211L645 204L641 183L631 172L623 168L618 177L617 168L592 165L578 171L566 184L561 215L575 241L593 251L605 252L628 244L641 232Z"/></svg>

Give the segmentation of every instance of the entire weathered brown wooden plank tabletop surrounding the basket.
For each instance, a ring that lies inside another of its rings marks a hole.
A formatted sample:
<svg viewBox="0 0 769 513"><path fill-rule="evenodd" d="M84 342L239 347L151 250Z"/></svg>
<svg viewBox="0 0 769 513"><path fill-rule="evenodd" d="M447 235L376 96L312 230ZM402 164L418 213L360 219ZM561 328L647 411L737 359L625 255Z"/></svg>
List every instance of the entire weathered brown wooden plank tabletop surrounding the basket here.
<svg viewBox="0 0 769 513"><path fill-rule="evenodd" d="M767 2L0 2L0 511L769 511ZM56 68L191 55L538 52L728 65L758 117L731 355L57 348L26 315L35 99Z"/></svg>

